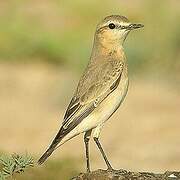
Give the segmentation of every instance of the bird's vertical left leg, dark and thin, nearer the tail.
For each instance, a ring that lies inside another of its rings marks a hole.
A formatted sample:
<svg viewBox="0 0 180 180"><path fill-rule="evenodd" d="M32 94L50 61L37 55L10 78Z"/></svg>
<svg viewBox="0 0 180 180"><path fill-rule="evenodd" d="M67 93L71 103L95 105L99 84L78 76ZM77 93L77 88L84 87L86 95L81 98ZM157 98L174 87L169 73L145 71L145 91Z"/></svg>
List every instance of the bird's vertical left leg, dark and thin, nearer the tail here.
<svg viewBox="0 0 180 180"><path fill-rule="evenodd" d="M86 163L87 163L87 172L90 172L90 163L89 163L89 139L91 136L92 130L89 130L85 132L84 135L84 143L85 143L85 148L86 148Z"/></svg>

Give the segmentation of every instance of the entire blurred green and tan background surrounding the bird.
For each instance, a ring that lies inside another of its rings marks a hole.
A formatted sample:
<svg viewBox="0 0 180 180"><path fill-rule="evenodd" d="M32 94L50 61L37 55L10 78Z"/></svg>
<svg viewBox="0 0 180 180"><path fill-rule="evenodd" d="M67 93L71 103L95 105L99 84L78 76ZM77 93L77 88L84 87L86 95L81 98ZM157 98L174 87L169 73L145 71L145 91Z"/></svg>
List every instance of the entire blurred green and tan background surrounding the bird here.
<svg viewBox="0 0 180 180"><path fill-rule="evenodd" d="M0 1L0 152L38 158L61 125L91 53L97 23L120 14L143 23L125 42L130 88L101 141L114 168L180 169L179 0ZM82 135L19 179L85 171ZM105 168L91 142L92 169Z"/></svg>

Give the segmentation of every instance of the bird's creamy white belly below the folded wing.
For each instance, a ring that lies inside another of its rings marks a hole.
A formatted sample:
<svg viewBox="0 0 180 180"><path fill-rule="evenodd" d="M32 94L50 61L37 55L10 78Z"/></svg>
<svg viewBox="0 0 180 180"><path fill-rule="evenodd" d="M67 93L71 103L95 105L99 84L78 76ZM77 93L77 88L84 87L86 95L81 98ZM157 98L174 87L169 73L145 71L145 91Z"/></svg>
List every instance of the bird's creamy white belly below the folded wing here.
<svg viewBox="0 0 180 180"><path fill-rule="evenodd" d="M69 132L60 142L64 144L74 136L86 132L90 129L96 128L98 125L103 124L109 117L118 109L128 90L128 78L123 78L118 87L105 99L88 117Z"/></svg>

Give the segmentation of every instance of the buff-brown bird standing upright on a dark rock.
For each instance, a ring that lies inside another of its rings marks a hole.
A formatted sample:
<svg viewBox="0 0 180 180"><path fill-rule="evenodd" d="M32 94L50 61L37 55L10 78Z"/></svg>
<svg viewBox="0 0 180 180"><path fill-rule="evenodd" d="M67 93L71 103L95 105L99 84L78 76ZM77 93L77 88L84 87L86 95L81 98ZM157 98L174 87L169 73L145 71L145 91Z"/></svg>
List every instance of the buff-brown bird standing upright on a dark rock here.
<svg viewBox="0 0 180 180"><path fill-rule="evenodd" d="M134 29L122 15L105 17L97 25L90 60L67 107L59 132L38 160L44 161L61 145L84 133L86 170L90 172L89 140L93 137L108 170L113 170L99 141L105 122L123 102L129 85L128 64L123 44Z"/></svg>

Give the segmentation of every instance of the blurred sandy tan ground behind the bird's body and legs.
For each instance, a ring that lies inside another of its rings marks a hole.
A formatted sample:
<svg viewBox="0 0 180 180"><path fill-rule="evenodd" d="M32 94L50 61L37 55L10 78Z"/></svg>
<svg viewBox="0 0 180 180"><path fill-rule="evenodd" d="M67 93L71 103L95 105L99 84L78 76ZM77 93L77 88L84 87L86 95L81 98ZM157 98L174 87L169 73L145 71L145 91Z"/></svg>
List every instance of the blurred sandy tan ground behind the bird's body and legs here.
<svg viewBox="0 0 180 180"><path fill-rule="evenodd" d="M61 125L78 75L42 65L0 65L0 150L40 156ZM108 121L102 144L115 168L180 169L180 93L158 80L130 81L128 96ZM80 158L82 136L51 159ZM91 142L92 168L105 167Z"/></svg>

